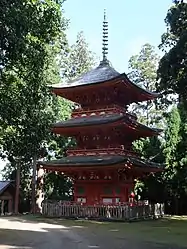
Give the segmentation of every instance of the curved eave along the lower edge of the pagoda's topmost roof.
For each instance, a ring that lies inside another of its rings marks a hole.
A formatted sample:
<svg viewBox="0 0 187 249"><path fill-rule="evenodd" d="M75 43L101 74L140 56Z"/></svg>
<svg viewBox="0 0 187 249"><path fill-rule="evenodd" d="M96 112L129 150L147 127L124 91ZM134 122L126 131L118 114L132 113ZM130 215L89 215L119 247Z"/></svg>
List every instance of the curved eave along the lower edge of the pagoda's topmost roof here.
<svg viewBox="0 0 187 249"><path fill-rule="evenodd" d="M56 94L56 95L60 95L63 96L64 94L67 93L71 93L71 92L75 92L75 91L83 91L86 89L90 89L90 87L95 88L98 87L98 85L103 85L103 86L111 86L112 83L116 84L116 83L122 83L129 85L129 87L132 88L132 90L137 91L137 93L141 93L144 96L143 100L151 100L151 99L155 99L157 97L159 97L161 94L160 93L156 93L156 92L151 92L149 90L146 90L144 88L142 88L141 86L133 83L132 81L129 80L129 78L127 77L127 75L125 73L119 74L116 77L110 78L110 79L106 79L104 81L96 81L96 82L89 82L89 83L85 83L85 84L77 84L77 85L68 85L68 84L64 84L64 85L57 85L57 86L51 86L51 91ZM142 101L143 101L142 100Z"/></svg>

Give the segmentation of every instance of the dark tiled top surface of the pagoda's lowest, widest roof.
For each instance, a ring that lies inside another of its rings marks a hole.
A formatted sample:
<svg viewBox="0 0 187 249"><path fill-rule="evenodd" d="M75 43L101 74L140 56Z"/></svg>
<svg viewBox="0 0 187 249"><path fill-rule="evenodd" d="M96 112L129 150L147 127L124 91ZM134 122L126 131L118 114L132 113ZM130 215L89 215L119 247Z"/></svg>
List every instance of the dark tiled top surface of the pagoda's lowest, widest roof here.
<svg viewBox="0 0 187 249"><path fill-rule="evenodd" d="M135 167L153 167L163 168L161 164L151 163L149 161L143 161L142 159L122 156L122 155L103 155L103 156L69 156L63 157L58 160L38 162L39 165L53 166L53 167L89 167L89 166L111 166L115 164L131 162Z"/></svg>

